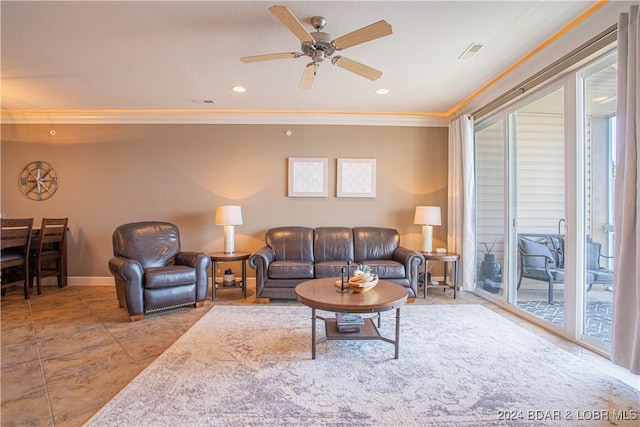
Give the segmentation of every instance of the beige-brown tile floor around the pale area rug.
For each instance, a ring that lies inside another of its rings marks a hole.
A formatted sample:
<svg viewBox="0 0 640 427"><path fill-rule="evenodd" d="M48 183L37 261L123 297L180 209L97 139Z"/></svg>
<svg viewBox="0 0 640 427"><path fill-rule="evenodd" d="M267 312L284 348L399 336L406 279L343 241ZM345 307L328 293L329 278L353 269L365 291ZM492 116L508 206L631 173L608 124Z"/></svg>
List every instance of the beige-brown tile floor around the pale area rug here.
<svg viewBox="0 0 640 427"><path fill-rule="evenodd" d="M209 298L210 298L209 293ZM239 289L219 289L215 304L253 304ZM278 304L278 302L272 302ZM288 302L286 304L297 304ZM566 350L607 361L468 293L429 289L415 304L483 304ZM42 295L2 297L2 426L79 426L200 319L214 303L146 315L130 322L113 287L44 286Z"/></svg>

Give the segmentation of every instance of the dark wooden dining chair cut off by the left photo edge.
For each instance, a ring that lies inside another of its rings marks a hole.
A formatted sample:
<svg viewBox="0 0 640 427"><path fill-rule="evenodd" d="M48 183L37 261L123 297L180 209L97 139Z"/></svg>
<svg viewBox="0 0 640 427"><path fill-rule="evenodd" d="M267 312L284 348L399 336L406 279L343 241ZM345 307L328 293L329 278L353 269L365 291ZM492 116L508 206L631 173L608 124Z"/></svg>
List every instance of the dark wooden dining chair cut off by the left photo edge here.
<svg viewBox="0 0 640 427"><path fill-rule="evenodd" d="M24 298L29 299L29 254L33 218L2 218L0 259L2 295L6 289L22 284Z"/></svg>

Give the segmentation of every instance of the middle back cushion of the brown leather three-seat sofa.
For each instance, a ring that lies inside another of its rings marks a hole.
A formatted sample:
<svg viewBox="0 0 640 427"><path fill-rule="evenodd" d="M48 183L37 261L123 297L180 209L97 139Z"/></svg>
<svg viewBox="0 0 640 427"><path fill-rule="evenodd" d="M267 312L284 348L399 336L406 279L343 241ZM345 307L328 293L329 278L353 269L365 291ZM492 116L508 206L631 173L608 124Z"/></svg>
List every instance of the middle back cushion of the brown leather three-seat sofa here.
<svg viewBox="0 0 640 427"><path fill-rule="evenodd" d="M318 227L313 230L313 259L318 263L353 261L353 232L348 227ZM319 276L328 277L328 276Z"/></svg>

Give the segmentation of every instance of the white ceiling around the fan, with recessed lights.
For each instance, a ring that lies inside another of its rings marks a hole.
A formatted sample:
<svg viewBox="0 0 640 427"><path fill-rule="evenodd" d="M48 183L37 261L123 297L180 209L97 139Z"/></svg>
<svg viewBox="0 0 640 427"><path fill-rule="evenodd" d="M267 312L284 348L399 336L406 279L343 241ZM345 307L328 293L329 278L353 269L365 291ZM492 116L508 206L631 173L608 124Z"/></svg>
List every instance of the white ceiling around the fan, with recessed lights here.
<svg viewBox="0 0 640 427"><path fill-rule="evenodd" d="M2 109L449 115L594 3L2 1ZM287 6L310 32L312 16L326 17L324 31L334 37L389 22L392 35L340 53L382 78L371 82L325 61L313 88L300 91L306 57L241 63L241 56L300 51L269 12L273 4ZM484 47L459 60L472 43ZM378 88L390 92L376 95Z"/></svg>

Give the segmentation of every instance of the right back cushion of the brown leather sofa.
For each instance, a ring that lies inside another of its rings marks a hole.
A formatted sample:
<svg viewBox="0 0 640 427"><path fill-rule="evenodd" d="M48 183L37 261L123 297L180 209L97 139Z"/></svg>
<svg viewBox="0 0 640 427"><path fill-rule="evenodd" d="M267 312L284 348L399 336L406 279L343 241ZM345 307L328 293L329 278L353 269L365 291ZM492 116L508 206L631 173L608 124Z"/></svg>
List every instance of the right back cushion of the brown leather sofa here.
<svg viewBox="0 0 640 427"><path fill-rule="evenodd" d="M398 230L380 227L353 229L354 258L358 264L363 264L370 259L391 260L398 246L400 246Z"/></svg>

